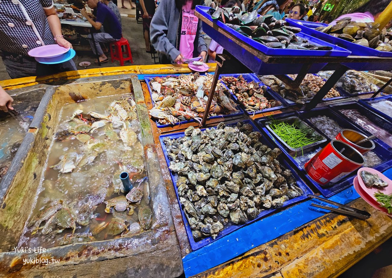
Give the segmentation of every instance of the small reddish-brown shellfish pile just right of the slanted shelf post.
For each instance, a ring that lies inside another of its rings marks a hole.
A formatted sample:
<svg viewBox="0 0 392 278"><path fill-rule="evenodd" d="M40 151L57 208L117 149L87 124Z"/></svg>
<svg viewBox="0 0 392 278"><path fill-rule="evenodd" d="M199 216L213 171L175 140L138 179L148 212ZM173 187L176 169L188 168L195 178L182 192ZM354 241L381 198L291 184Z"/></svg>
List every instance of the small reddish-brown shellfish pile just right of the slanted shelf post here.
<svg viewBox="0 0 392 278"><path fill-rule="evenodd" d="M269 100L264 96L267 92L266 86L261 86L260 83L255 81L247 82L242 75L238 76L238 78L222 76L221 80L237 97L246 111L250 113L282 105L279 100Z"/></svg>

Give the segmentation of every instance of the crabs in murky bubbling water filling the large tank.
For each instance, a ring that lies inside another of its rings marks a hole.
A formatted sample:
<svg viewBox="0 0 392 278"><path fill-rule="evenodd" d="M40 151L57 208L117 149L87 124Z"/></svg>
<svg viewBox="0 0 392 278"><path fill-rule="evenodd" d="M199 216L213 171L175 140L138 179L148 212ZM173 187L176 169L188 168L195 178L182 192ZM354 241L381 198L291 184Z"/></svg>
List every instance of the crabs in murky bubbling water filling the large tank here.
<svg viewBox="0 0 392 278"><path fill-rule="evenodd" d="M113 99L64 106L20 244L48 248L151 228L136 104L129 95ZM121 172L129 173L129 192L124 192Z"/></svg>

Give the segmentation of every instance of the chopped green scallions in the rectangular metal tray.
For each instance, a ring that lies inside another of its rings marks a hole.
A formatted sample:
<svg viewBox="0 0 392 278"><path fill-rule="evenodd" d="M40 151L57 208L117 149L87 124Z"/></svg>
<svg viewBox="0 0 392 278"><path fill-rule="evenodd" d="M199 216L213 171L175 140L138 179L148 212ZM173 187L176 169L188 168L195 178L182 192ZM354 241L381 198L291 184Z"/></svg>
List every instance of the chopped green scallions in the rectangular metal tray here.
<svg viewBox="0 0 392 278"><path fill-rule="evenodd" d="M298 120L289 124L281 120L272 119L270 127L276 135L294 149L310 145L323 139L323 137L319 135L313 135L314 130L311 128L299 128Z"/></svg>

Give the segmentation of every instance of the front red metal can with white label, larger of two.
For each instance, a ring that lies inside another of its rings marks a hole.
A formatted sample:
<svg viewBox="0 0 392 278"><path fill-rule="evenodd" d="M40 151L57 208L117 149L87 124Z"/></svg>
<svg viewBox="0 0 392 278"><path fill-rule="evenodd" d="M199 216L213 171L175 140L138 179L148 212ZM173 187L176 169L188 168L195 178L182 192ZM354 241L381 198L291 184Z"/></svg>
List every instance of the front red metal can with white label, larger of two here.
<svg viewBox="0 0 392 278"><path fill-rule="evenodd" d="M307 174L319 185L336 183L365 163L363 155L345 142L333 139L305 163Z"/></svg>

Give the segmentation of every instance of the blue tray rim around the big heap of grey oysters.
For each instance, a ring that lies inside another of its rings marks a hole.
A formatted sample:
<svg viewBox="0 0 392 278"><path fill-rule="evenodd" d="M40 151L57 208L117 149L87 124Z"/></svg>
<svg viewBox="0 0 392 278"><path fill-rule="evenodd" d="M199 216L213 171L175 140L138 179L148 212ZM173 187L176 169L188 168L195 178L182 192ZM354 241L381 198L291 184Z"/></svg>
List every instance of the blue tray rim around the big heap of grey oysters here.
<svg viewBox="0 0 392 278"><path fill-rule="evenodd" d="M260 130L258 129L258 127L256 127L256 126L253 124L252 121L250 121L250 120L245 120L245 121L243 121L243 122L244 122L245 124L251 124L254 131L260 131ZM236 125L236 123L233 124L233 125ZM215 127L214 127L214 128L215 128ZM204 130L205 130L205 129L201 129L201 131L204 131ZM183 133L183 132L180 132L180 133L172 133L172 134L167 134L167 135L161 135L161 136L159 136L159 140L160 140L160 142L161 142L163 154L165 155L165 160L166 160L166 163L167 163L168 166L170 165L170 161L169 161L169 159L168 159L168 157L167 157L166 146L165 146L165 144L163 143L163 139L164 139L165 137L169 137L169 138L171 138L171 139L175 139L175 138L182 137L182 136L184 136L184 133ZM264 137L261 137L261 138L260 138L260 142L263 143L263 144L265 144L265 145L268 145L269 147L274 147L274 144L270 143L270 142L269 142L268 140L266 140ZM267 216L267 215L270 215L270 214L272 214L272 213L276 213L276 212L278 212L278 211L280 211L280 210L282 210L282 209L284 209L284 208L287 208L288 206L291 206L292 204L299 203L299 202L301 202L301 201L303 201L303 200L305 200L305 199L308 198L308 197L307 197L307 194L312 194L312 190L310 190L310 188L304 183L304 181L303 181L301 178L299 178L299 176L298 176L298 174L296 173L296 171L289 165L289 163L287 163L287 161L285 160L284 156L279 156L279 159L278 159L278 160L279 160L279 162L280 162L280 164L282 165L283 168L289 169L289 170L292 171L293 177L296 179L297 186L303 190L303 195L301 195L301 196L299 196L299 197L296 197L296 198L293 198L293 199L290 199L290 200L284 202L284 203L283 203L283 206L282 206L281 208L270 208L269 210L264 210L264 211L262 211L262 212L258 215L258 217L256 217L256 219L249 220L249 221L246 222L245 224L242 224L242 225L235 225L235 224L232 224L231 226L228 226L228 227L225 228L223 231L221 231L221 232L218 234L218 237L216 237L215 239L212 239L212 237L207 237L207 238L202 239L202 240L197 241L197 242L195 242L194 239L193 239L192 231L191 231L191 228L189 227L188 220L187 220L187 218L185 217L185 213L184 213L183 209L181 208L180 197L178 196L177 187L176 187L177 175L173 175L172 172L169 170L170 176L171 176L172 181L173 181L174 191L176 192L178 205L180 206L180 211L181 211L182 219L183 219L184 224L185 224L185 230L186 230L186 232L187 232L187 236L188 236L188 239L189 239L189 244L191 245L192 251L195 251L195 250L197 250L197 249L200 249L200 248L202 248L203 246L206 246L207 244L209 244L209 243L211 243L211 242L213 242L213 241L215 241L215 240L218 240L218 239L224 237L225 235L228 235L229 233L231 233L231 232L233 232L233 231L236 231L236 230L240 229L240 228L243 227L243 226L246 226L246 225L248 225L248 224L250 224L250 223L252 223L252 222L258 221L259 219L261 219L261 218L263 218L263 217L265 217L265 216Z"/></svg>

